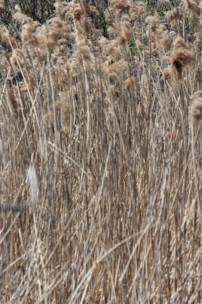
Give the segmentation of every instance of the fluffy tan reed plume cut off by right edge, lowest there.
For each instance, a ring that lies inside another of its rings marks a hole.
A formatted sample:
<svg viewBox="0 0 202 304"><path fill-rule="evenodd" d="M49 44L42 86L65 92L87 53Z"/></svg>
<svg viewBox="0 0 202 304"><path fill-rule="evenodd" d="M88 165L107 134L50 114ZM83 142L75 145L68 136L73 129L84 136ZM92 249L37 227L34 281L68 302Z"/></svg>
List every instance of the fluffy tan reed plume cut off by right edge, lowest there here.
<svg viewBox="0 0 202 304"><path fill-rule="evenodd" d="M202 120L202 91L197 91L191 98L191 105L189 107L189 118L193 117L194 121Z"/></svg>

